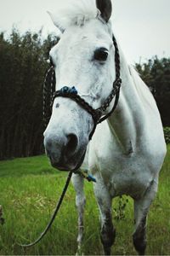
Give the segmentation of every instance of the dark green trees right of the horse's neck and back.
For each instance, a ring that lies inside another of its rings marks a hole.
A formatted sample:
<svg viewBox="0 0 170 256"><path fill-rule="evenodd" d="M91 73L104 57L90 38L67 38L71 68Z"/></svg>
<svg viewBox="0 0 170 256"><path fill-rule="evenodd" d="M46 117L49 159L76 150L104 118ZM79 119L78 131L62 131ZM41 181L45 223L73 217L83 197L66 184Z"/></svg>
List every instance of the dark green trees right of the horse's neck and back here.
<svg viewBox="0 0 170 256"><path fill-rule="evenodd" d="M136 68L156 99L163 125L170 126L170 58L154 57Z"/></svg>

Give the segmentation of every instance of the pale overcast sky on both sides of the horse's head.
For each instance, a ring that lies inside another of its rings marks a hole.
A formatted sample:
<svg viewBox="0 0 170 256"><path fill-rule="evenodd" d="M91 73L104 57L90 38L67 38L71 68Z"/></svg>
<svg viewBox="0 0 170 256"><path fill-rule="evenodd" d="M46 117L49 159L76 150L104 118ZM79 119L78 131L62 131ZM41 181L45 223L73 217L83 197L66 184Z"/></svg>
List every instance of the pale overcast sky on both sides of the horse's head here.
<svg viewBox="0 0 170 256"><path fill-rule="evenodd" d="M81 1L81 0L80 0ZM62 0L0 0L0 31L57 32L48 17ZM131 63L153 55L170 56L170 0L113 0L113 30Z"/></svg>

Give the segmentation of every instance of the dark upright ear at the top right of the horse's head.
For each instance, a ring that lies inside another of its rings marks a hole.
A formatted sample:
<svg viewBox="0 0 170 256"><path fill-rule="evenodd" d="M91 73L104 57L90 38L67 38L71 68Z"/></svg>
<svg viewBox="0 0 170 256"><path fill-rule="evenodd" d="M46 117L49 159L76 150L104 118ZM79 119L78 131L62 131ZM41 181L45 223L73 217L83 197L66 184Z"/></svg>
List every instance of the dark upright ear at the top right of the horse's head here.
<svg viewBox="0 0 170 256"><path fill-rule="evenodd" d="M96 0L96 6L101 13L101 17L108 22L112 12L111 0Z"/></svg>

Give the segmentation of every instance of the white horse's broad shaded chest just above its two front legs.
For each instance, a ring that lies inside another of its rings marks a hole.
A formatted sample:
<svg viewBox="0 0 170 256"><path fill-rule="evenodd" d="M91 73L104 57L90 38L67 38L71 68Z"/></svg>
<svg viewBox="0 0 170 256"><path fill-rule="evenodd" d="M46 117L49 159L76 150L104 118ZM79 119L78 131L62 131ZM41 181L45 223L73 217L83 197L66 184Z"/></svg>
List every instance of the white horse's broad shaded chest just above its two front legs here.
<svg viewBox="0 0 170 256"><path fill-rule="evenodd" d="M94 169L94 175L95 172L101 173L101 178L112 197L130 195L138 198L144 194L154 179L147 166L144 166L144 162L137 163L136 160L127 162L123 158L115 159L112 164L103 160L99 163L99 168Z"/></svg>

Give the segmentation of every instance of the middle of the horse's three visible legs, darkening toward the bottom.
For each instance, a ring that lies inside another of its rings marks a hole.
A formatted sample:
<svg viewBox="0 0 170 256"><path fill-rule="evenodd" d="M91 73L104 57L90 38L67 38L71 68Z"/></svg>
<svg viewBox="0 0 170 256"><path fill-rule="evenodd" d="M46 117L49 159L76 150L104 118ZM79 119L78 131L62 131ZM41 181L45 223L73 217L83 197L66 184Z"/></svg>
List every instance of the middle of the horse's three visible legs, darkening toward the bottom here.
<svg viewBox="0 0 170 256"><path fill-rule="evenodd" d="M94 193L99 205L100 212L100 239L103 244L105 255L111 255L111 246L116 237L116 230L112 224L111 195L102 180L97 178L94 184Z"/></svg>

